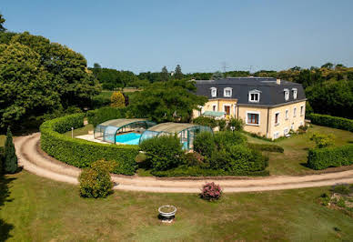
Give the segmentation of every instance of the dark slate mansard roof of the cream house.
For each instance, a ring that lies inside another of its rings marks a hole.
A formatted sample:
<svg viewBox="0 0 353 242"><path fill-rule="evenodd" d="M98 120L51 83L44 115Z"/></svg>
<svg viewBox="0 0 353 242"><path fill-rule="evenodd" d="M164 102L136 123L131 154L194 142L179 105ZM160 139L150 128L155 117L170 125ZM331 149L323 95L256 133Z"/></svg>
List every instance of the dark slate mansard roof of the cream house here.
<svg viewBox="0 0 353 242"><path fill-rule="evenodd" d="M227 77L220 80L196 80L197 95L207 96L208 99L216 98L237 98L239 105L251 106L280 106L282 104L306 100L303 86L298 83L292 83L281 80L277 85L276 78L267 77ZM217 88L217 97L211 96L211 87ZM225 97L224 88L233 88L232 96ZM293 98L292 88L297 88L297 99ZM289 89L289 99L285 100L284 90ZM261 92L258 103L248 102L248 93L252 90Z"/></svg>

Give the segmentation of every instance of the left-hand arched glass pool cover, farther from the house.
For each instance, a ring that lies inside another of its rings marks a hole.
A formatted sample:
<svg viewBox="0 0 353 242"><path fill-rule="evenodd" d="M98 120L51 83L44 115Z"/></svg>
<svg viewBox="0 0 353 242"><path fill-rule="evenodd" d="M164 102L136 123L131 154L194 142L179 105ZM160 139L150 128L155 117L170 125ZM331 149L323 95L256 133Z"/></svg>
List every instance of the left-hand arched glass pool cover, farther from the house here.
<svg viewBox="0 0 353 242"><path fill-rule="evenodd" d="M95 138L116 144L116 136L129 132L141 134L151 126L156 126L156 123L148 121L145 118L119 118L108 120L96 126Z"/></svg>

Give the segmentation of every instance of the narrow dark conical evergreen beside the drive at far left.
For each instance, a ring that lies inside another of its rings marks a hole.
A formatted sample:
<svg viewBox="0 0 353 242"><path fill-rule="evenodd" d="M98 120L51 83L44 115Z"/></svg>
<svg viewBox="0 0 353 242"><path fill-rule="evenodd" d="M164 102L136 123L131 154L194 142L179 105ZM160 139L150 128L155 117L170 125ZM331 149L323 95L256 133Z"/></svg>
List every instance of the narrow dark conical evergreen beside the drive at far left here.
<svg viewBox="0 0 353 242"><path fill-rule="evenodd" d="M15 145L12 139L10 126L7 127L6 141L5 141L5 173L14 174L17 171L17 156L15 154Z"/></svg>

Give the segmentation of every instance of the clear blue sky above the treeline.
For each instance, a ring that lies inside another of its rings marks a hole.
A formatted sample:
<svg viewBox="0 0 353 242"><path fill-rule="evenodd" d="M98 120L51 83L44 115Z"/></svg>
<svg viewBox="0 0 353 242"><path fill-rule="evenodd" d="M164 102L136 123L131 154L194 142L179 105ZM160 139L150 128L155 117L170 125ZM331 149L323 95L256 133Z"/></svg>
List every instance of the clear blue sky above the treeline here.
<svg viewBox="0 0 353 242"><path fill-rule="evenodd" d="M86 56L88 66L183 72L353 66L353 1L2 0L11 31Z"/></svg>

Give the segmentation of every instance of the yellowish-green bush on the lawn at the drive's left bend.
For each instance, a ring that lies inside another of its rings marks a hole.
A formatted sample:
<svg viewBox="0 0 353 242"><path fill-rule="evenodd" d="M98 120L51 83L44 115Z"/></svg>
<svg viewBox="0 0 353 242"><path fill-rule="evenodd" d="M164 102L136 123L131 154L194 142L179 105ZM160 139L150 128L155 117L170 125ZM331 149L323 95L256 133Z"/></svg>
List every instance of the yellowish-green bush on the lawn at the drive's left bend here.
<svg viewBox="0 0 353 242"><path fill-rule="evenodd" d="M106 197L112 193L111 169L111 164L105 160L98 160L84 169L79 176L81 197Z"/></svg>

